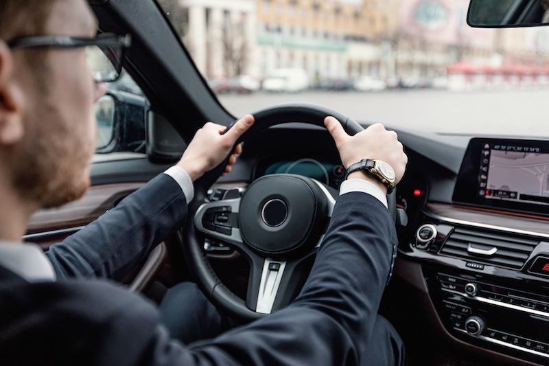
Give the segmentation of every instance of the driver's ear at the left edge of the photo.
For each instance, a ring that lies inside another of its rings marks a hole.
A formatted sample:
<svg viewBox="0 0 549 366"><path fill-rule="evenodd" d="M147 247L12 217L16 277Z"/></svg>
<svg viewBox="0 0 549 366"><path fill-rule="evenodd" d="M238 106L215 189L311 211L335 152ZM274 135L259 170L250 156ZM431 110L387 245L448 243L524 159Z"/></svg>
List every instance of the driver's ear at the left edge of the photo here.
<svg viewBox="0 0 549 366"><path fill-rule="evenodd" d="M23 137L21 98L14 82L13 54L0 39L0 145L11 145Z"/></svg>

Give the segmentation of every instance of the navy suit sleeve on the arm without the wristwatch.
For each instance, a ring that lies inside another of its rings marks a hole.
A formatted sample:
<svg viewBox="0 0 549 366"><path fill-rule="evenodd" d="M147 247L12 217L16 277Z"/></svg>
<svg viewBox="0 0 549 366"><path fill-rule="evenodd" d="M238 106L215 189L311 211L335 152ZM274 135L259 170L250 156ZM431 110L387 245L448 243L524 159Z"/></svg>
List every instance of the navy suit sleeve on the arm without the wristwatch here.
<svg viewBox="0 0 549 366"><path fill-rule="evenodd" d="M46 252L58 278L107 277L119 281L154 245L182 227L187 201L180 186L159 174L117 207Z"/></svg>

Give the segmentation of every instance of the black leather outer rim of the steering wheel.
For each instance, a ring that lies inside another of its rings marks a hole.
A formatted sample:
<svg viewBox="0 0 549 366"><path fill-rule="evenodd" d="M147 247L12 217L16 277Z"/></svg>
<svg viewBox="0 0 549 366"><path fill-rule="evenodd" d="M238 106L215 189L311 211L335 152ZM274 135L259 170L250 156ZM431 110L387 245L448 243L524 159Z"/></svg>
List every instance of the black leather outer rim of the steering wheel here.
<svg viewBox="0 0 549 366"><path fill-rule="evenodd" d="M255 117L254 125L242 135L242 137L237 141L239 144L241 141L246 141L250 137L253 137L262 130L265 130L271 126L277 124L284 124L289 122L303 122L307 124L313 124L316 126L324 127L324 119L328 115L332 115L341 122L344 129L349 133L349 135L355 135L361 130L364 130L358 122L355 122L350 117L343 115L338 111L334 111L325 106L320 106L316 104L303 104L303 103L290 103L290 104L279 104L271 106L268 108L261 109L253 113ZM232 126L232 125L231 125ZM229 126L229 128L231 128ZM229 130L227 128L227 130ZM225 131L226 132L226 131ZM194 276L198 287L205 296L214 304L216 307L220 308L223 312L228 314L233 319L237 319L243 322L252 321L254 319L259 319L266 316L266 314L261 312L256 312L251 310L246 306L246 301L237 297L233 294L229 288L226 288L220 279L215 275L213 268L211 268L209 261L207 260L207 255L202 249L202 245L198 242L198 236L195 227L195 215L199 210L200 206L205 202L205 197L207 196L207 190L217 181L218 177L224 171L224 167L228 161L228 158L223 161L218 167L214 168L210 172L207 172L204 176L198 179L195 182L195 197L188 205L189 218L185 227L183 228L183 250L185 253L185 259L187 261L187 266L191 274ZM259 180L259 179L258 179ZM312 181L312 180L311 180ZM308 183L309 187L312 187L316 190L314 183ZM318 191L317 191L318 192ZM327 193L327 192L325 192ZM395 192L388 196L388 203L393 219L396 217L396 198ZM240 201L239 201L240 203ZM335 203L335 201L334 201ZM236 203L233 203L236 204ZM202 207L203 208L203 207ZM230 240L229 240L230 242ZM246 251L246 254L253 256L253 253ZM252 264L250 263L250 266ZM250 273L253 268L250 268ZM292 271L290 271L292 273ZM250 275L253 277L253 275ZM254 280L248 280L249 286L255 286L253 284Z"/></svg>

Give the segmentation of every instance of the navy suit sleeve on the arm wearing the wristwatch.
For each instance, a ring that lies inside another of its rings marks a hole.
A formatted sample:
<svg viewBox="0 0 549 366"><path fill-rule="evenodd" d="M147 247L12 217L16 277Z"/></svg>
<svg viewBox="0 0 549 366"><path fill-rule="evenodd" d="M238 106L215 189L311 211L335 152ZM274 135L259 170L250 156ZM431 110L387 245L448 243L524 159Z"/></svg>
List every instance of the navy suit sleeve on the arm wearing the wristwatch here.
<svg viewBox="0 0 549 366"><path fill-rule="evenodd" d="M393 220L382 203L364 193L344 194L309 278L288 308L187 348L157 327L148 364L358 364L396 243Z"/></svg>

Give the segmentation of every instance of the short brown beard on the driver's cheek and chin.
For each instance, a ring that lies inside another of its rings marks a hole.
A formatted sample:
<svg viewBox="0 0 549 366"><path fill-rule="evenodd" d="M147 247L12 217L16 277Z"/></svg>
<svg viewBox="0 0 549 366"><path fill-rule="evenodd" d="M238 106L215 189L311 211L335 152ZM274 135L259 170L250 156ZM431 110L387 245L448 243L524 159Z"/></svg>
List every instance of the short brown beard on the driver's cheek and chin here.
<svg viewBox="0 0 549 366"><path fill-rule="evenodd" d="M87 121L67 119L54 103L44 109L32 138L14 155L13 183L25 200L51 208L77 200L88 189L95 133L90 136L82 128Z"/></svg>

